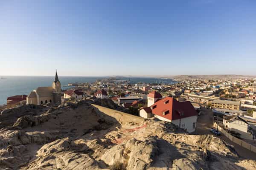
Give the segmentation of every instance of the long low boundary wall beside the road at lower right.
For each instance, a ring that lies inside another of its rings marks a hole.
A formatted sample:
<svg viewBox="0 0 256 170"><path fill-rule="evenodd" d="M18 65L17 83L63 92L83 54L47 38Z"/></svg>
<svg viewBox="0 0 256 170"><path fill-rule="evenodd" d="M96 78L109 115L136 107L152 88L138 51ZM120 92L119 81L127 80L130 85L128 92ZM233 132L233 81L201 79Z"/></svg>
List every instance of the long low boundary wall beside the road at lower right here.
<svg viewBox="0 0 256 170"><path fill-rule="evenodd" d="M213 127L217 128L217 123L214 122L213 123ZM248 144L247 142L244 142L243 140L241 139L238 139L236 138L235 136L232 136L230 133L228 133L226 130L222 129L222 127L218 126L218 130L223 133L228 139L230 139L230 141L236 143L236 144L239 144L241 147L244 147L254 153L256 153L256 147L251 145L251 144Z"/></svg>

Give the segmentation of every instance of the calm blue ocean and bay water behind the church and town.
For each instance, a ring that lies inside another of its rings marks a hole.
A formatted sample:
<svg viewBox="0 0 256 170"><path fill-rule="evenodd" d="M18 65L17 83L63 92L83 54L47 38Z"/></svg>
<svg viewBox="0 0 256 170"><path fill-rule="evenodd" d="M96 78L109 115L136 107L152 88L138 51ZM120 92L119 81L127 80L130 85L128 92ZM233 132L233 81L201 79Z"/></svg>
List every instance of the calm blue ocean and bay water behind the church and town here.
<svg viewBox="0 0 256 170"><path fill-rule="evenodd" d="M29 93L38 88L52 86L52 82L55 77L47 76L0 76L0 105L6 104L6 99L9 96L21 95ZM96 79L102 79L106 77L59 77L62 85L75 82L95 82ZM122 78L122 80L129 80L129 78ZM175 81L172 79L158 79L158 78L142 78L142 77L131 77L131 83L145 82L145 83L164 83L173 84Z"/></svg>

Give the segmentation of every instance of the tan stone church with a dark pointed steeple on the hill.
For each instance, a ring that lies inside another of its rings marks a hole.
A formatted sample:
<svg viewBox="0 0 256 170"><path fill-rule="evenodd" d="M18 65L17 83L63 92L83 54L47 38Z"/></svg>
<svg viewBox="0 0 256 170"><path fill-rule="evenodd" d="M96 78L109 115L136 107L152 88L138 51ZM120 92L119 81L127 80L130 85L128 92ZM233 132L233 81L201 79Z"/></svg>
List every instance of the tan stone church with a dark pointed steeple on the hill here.
<svg viewBox="0 0 256 170"><path fill-rule="evenodd" d="M58 79L57 71L52 87L38 87L31 91L26 98L27 104L44 105L49 102L53 104L61 103L61 82Z"/></svg>

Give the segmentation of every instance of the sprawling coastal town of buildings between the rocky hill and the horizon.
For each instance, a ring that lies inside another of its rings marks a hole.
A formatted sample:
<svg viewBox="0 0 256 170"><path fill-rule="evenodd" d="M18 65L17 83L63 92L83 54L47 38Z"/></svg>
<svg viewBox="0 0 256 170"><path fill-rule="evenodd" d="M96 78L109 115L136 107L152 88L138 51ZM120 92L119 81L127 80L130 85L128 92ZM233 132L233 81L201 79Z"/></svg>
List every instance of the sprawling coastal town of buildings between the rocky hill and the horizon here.
<svg viewBox="0 0 256 170"><path fill-rule="evenodd" d="M186 76L171 85L132 84L113 77L93 83L70 82L65 86L70 88L61 89L56 71L51 87L38 87L30 94L10 96L7 105L0 109L100 98L111 100L135 116L172 122L188 133L195 133L204 108L212 114L210 126L218 125L211 132L218 134L220 127L239 139L249 140L249 143L255 139L256 79L253 77L204 79Z"/></svg>

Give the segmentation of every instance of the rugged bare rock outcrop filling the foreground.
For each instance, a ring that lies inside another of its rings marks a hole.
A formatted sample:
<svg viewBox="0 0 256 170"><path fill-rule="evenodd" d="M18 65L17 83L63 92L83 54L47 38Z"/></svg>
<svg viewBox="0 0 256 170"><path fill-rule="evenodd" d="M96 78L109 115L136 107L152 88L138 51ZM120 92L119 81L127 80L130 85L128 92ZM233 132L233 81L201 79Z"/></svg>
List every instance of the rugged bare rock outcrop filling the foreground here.
<svg viewBox="0 0 256 170"><path fill-rule="evenodd" d="M171 123L157 120L122 125L118 121L106 122L87 101L33 109L34 115L27 112L0 130L1 170L256 167L256 161L241 159L232 146L215 136L189 135Z"/></svg>

